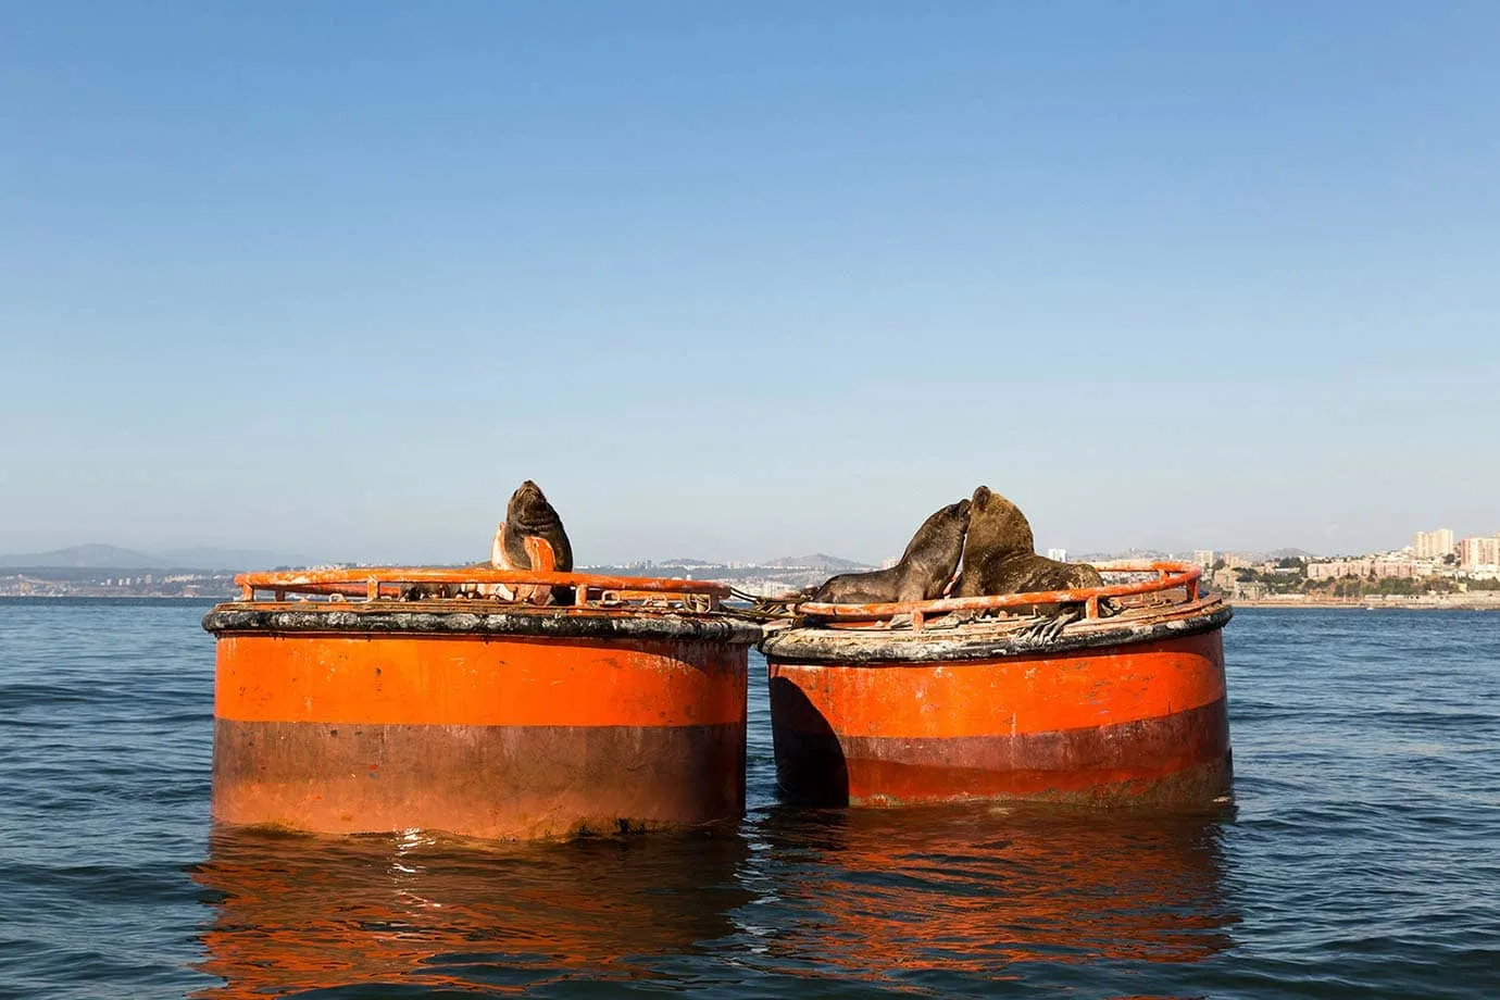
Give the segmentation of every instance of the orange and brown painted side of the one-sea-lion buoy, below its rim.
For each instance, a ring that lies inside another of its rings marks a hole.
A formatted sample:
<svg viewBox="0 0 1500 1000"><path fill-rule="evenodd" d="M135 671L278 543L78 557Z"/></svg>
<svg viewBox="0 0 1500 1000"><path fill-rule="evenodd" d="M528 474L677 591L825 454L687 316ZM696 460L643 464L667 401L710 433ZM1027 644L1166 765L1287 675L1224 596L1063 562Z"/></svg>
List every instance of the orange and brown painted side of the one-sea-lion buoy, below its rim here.
<svg viewBox="0 0 1500 1000"><path fill-rule="evenodd" d="M360 628L212 628L216 820L512 840L744 813L748 640Z"/></svg>

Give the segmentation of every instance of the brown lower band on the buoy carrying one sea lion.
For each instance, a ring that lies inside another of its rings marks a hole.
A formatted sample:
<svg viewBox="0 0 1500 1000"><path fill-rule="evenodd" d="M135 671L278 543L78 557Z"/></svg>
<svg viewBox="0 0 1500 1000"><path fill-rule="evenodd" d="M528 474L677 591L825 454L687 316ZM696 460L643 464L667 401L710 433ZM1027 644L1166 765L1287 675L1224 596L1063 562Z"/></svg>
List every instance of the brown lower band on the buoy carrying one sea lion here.
<svg viewBox="0 0 1500 1000"><path fill-rule="evenodd" d="M327 834L530 840L744 814L744 724L214 721L213 817Z"/></svg>

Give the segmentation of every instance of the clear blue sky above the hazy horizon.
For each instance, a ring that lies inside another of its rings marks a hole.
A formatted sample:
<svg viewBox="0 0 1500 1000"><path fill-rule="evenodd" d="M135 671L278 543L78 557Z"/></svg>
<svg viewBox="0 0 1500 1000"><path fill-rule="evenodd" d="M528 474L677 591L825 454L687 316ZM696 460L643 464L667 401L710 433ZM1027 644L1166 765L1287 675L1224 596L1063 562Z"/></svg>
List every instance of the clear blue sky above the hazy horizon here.
<svg viewBox="0 0 1500 1000"><path fill-rule="evenodd" d="M1500 531L1500 6L8 4L0 552Z"/></svg>

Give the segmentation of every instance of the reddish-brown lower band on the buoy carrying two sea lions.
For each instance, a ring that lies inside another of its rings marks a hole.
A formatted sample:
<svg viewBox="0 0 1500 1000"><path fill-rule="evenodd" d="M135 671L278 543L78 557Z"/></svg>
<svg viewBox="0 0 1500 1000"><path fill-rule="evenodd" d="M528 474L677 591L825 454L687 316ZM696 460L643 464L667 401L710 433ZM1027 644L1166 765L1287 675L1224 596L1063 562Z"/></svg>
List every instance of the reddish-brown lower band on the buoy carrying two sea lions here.
<svg viewBox="0 0 1500 1000"><path fill-rule="evenodd" d="M954 799L1210 805L1233 775L1228 705L1018 736L840 736L772 688L777 781L818 805Z"/></svg>

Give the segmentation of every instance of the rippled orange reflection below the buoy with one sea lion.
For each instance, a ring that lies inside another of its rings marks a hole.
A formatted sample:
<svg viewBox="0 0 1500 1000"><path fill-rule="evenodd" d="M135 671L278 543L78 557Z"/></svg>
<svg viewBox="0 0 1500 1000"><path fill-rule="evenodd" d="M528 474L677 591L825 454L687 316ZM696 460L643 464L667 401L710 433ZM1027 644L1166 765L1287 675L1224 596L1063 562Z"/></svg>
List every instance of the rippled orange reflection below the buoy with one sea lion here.
<svg viewBox="0 0 1500 1000"><path fill-rule="evenodd" d="M650 978L650 960L732 930L736 837L480 847L430 838L214 831L200 996L366 984L522 990Z"/></svg>

